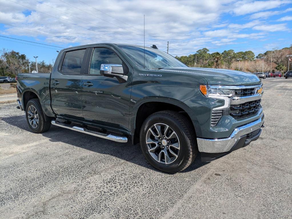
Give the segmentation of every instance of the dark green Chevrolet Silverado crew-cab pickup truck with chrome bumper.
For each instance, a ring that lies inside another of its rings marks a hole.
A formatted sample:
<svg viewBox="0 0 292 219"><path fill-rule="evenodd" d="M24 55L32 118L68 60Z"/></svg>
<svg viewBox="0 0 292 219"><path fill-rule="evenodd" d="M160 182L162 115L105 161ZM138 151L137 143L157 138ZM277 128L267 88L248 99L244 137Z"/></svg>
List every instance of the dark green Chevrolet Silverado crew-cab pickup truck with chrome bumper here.
<svg viewBox="0 0 292 219"><path fill-rule="evenodd" d="M146 160L168 173L198 152L210 162L245 147L264 127L256 75L188 67L154 45L61 50L51 73L19 74L17 93L33 132L56 125L140 143Z"/></svg>

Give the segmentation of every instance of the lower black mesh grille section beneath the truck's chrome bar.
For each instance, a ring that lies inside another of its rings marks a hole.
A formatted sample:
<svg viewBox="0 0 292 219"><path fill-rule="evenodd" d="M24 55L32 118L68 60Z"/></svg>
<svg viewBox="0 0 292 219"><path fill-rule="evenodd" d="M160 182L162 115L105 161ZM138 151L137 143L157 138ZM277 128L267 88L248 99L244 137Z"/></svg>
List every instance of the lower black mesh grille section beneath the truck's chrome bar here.
<svg viewBox="0 0 292 219"><path fill-rule="evenodd" d="M255 115L261 108L260 101L261 99L249 101L244 104L230 105L229 113L235 119L241 119Z"/></svg>

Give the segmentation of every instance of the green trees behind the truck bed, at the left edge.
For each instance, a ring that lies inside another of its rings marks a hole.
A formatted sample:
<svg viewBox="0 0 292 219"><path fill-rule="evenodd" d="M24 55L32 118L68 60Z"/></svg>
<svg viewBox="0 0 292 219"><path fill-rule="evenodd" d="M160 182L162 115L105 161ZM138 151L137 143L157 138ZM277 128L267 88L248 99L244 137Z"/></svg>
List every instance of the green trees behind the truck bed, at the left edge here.
<svg viewBox="0 0 292 219"><path fill-rule="evenodd" d="M38 71L50 73L53 69L52 63L37 62ZM25 54L20 54L20 52L15 52L14 50L0 50L0 76L14 78L19 73L29 73L29 66L30 71L36 70L35 60L29 60Z"/></svg>

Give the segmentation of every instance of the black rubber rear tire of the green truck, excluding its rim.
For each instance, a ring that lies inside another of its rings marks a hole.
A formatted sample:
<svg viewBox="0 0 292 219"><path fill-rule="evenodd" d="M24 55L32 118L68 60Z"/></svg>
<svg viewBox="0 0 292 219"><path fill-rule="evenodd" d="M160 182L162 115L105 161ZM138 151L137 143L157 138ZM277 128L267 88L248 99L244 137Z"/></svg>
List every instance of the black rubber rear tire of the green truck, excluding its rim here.
<svg viewBox="0 0 292 219"><path fill-rule="evenodd" d="M36 125L36 127L33 127L29 123L28 110L29 110L30 106L33 106L36 109L36 112L38 115L38 124ZM26 108L25 108L25 117L26 117L26 121L27 121L29 128L32 129L32 131L35 133L46 132L51 127L51 121L45 120L44 112L43 112L43 109L41 108L41 103L39 102L39 99L31 99L27 102Z"/></svg>

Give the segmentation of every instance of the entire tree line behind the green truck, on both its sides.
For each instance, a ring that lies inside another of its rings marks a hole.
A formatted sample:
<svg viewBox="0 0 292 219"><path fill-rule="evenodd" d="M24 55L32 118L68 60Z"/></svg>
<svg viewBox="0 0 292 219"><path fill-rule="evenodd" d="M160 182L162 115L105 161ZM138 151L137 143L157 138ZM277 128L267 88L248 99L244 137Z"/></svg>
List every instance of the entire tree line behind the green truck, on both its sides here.
<svg viewBox="0 0 292 219"><path fill-rule="evenodd" d="M190 67L233 69L246 72L270 72L271 70L283 72L288 70L288 57L286 56L292 55L292 44L290 47L274 48L257 56L250 50L245 52L234 52L234 50L224 50L222 53L209 52L207 48L203 48L194 54L175 56L175 58ZM51 63L38 62L38 71L49 73L53 69L53 64L53 60ZM29 73L29 65L31 71L36 70L35 61L29 60L25 54L14 50L0 50L0 76L15 77L19 73Z"/></svg>

